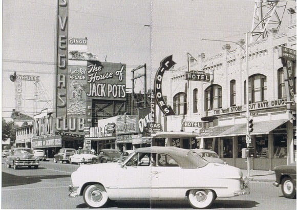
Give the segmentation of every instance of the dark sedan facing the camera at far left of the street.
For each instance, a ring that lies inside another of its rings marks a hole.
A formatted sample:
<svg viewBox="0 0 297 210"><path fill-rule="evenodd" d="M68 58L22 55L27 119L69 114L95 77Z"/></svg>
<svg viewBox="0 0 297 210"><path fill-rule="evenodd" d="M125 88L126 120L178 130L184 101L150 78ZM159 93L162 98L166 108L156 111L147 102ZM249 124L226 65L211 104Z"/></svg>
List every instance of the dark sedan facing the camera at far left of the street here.
<svg viewBox="0 0 297 210"><path fill-rule="evenodd" d="M6 166L10 168L13 166L14 169L18 167L29 167L34 166L34 169L38 169L39 158L35 157L33 150L30 148L14 148L10 151L9 156L6 158Z"/></svg>

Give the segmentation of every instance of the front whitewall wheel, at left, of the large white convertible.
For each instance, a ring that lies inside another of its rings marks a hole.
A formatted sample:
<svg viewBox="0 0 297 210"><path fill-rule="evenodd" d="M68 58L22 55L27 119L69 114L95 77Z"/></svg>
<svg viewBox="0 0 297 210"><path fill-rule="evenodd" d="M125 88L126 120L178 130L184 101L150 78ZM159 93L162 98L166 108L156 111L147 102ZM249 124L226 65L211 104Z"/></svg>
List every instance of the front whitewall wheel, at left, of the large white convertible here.
<svg viewBox="0 0 297 210"><path fill-rule="evenodd" d="M84 188L83 201L91 208L99 208L108 201L108 194L100 184L89 185Z"/></svg>

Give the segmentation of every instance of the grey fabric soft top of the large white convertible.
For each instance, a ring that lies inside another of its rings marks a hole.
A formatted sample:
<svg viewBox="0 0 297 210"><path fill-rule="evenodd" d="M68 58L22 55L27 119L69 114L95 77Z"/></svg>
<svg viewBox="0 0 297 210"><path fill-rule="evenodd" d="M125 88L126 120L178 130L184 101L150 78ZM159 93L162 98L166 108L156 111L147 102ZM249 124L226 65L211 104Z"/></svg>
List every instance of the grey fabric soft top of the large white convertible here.
<svg viewBox="0 0 297 210"><path fill-rule="evenodd" d="M182 168L197 168L200 164L207 164L208 162L200 157L195 150L187 150L177 148L175 146L152 146L147 148L138 148L136 153L162 153L169 155L175 159L175 161ZM196 153L197 155L193 154Z"/></svg>

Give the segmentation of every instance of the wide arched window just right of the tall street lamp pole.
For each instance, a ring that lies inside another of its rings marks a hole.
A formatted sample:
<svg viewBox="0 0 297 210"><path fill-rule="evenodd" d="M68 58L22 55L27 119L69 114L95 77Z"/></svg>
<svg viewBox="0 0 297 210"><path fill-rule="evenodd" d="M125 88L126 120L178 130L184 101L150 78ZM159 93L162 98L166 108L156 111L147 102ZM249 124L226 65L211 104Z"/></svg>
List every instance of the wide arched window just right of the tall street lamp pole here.
<svg viewBox="0 0 297 210"><path fill-rule="evenodd" d="M266 76L255 74L248 79L249 103L265 101L267 91ZM244 103L246 103L246 81L244 81Z"/></svg>

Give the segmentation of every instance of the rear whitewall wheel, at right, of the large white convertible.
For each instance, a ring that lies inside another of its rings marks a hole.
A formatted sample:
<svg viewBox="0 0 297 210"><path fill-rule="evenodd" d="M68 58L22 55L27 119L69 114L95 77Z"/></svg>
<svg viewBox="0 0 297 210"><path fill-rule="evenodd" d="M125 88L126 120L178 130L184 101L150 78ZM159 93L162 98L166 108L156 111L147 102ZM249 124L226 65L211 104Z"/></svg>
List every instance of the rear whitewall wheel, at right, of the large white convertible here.
<svg viewBox="0 0 297 210"><path fill-rule="evenodd" d="M215 193L211 190L191 190L188 200L193 208L207 208L215 200Z"/></svg>

